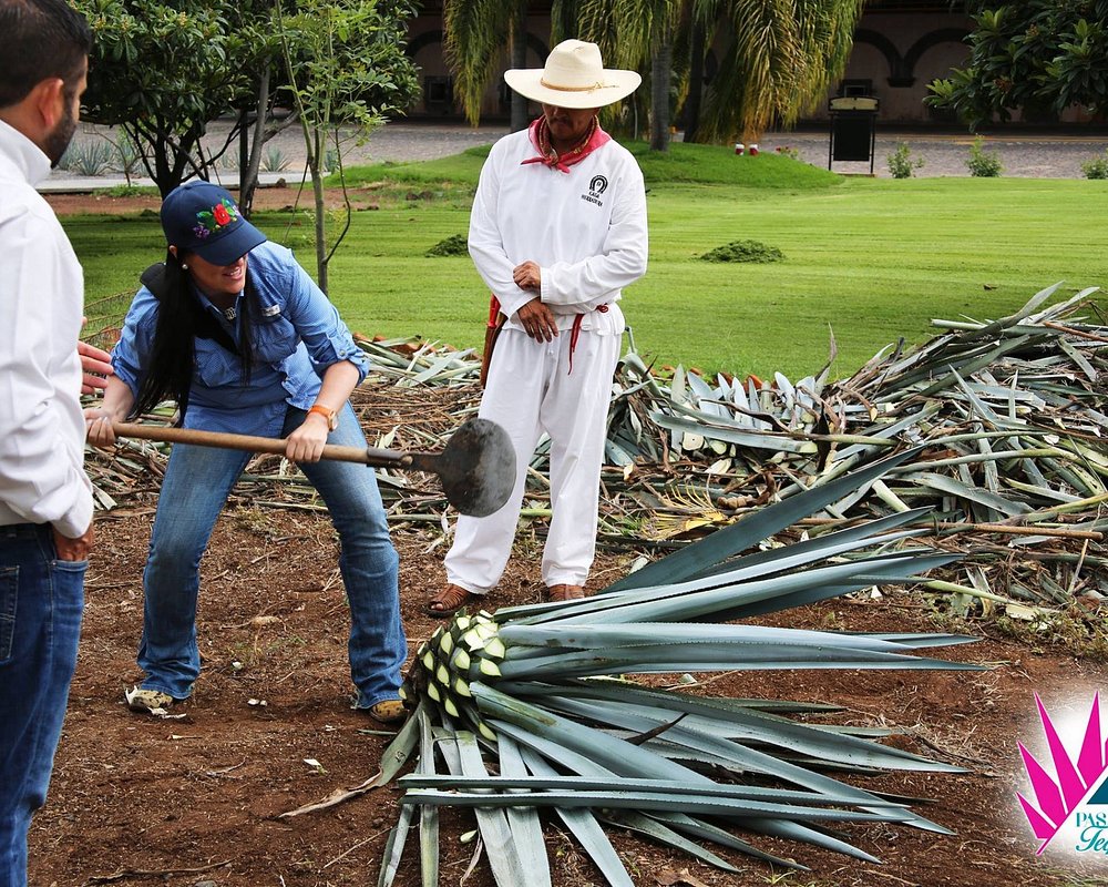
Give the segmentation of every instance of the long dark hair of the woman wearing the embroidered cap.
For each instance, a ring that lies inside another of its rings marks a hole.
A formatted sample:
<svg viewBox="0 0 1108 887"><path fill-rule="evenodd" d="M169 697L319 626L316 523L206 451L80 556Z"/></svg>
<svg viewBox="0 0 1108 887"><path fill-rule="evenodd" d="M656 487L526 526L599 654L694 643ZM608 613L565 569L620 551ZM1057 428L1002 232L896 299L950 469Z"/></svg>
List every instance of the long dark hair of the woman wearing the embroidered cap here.
<svg viewBox="0 0 1108 887"><path fill-rule="evenodd" d="M207 313L194 295L188 274L182 267L187 256L187 253L179 251L177 255L166 253L165 269L156 284L147 282L146 276L143 276L147 288L157 296L157 325L154 328L150 361L143 367L138 398L132 410L137 416L148 412L163 400L173 398L177 401L178 425L184 422L188 409L188 389L196 363L197 337L214 338L222 345L226 341L223 347L228 348L229 345L228 350L234 348L243 363L243 385L249 383L254 363L250 306L256 296L249 266L246 269L246 292L236 346L219 326L219 322Z"/></svg>

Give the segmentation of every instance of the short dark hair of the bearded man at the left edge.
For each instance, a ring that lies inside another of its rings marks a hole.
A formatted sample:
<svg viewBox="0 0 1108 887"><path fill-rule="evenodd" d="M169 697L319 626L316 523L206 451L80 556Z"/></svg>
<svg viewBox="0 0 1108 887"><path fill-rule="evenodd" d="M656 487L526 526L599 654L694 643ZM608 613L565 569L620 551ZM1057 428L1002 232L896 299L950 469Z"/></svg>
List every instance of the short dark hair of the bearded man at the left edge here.
<svg viewBox="0 0 1108 887"><path fill-rule="evenodd" d="M89 22L64 0L0 0L0 108L51 78L72 99L91 49Z"/></svg>

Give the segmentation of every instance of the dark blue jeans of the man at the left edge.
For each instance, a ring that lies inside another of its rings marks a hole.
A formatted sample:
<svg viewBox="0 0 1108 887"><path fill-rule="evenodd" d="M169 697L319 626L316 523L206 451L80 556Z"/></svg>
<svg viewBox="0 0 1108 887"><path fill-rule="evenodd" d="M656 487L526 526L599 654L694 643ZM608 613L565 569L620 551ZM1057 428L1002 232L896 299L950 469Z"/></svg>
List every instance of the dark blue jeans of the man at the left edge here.
<svg viewBox="0 0 1108 887"><path fill-rule="evenodd" d="M27 884L27 829L47 799L88 565L55 560L49 524L0 527L0 887Z"/></svg>

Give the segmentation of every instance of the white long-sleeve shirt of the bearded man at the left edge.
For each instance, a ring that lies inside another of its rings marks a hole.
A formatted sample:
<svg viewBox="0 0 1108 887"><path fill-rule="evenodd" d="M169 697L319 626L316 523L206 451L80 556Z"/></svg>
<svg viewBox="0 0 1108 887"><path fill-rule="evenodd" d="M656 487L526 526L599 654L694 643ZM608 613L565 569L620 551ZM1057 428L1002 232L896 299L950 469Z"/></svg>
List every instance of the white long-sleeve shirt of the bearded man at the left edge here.
<svg viewBox="0 0 1108 887"><path fill-rule="evenodd" d="M50 160L0 121L0 526L92 522L84 473L81 361L84 276L34 186Z"/></svg>

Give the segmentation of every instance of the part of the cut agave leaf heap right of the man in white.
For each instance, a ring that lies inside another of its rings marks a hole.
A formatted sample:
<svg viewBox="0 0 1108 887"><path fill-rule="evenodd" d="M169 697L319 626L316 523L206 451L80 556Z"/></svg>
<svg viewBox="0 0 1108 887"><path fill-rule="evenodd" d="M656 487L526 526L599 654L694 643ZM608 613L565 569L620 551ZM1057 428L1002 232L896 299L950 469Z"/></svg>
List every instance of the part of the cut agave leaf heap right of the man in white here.
<svg viewBox="0 0 1108 887"><path fill-rule="evenodd" d="M687 536L922 446L829 502L810 531L930 507L932 536L964 555L962 578L932 588L963 609L1030 619L1077 599L1095 608L1108 594L1108 325L1079 314L1097 310L1091 289L1043 308L1057 288L999 320L935 320L950 332L833 383L824 368L796 384L720 376L712 386L678 368L664 389L632 355L609 460L632 473L655 459L701 468L623 500L653 506L657 537ZM668 435L659 441L650 426Z"/></svg>

